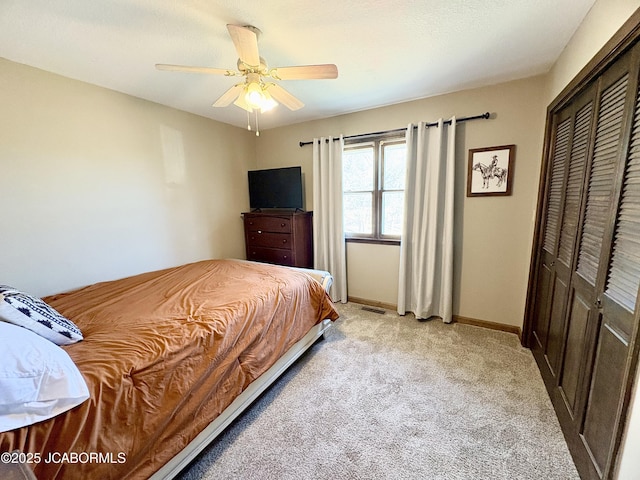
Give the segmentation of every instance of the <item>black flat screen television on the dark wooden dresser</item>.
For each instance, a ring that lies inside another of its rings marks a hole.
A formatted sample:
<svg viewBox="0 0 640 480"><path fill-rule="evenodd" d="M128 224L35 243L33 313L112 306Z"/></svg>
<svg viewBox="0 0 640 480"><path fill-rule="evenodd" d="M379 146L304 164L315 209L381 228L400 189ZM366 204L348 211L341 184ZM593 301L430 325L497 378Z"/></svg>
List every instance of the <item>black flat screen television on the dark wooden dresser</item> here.
<svg viewBox="0 0 640 480"><path fill-rule="evenodd" d="M250 170L249 206L252 210L302 209L302 168Z"/></svg>

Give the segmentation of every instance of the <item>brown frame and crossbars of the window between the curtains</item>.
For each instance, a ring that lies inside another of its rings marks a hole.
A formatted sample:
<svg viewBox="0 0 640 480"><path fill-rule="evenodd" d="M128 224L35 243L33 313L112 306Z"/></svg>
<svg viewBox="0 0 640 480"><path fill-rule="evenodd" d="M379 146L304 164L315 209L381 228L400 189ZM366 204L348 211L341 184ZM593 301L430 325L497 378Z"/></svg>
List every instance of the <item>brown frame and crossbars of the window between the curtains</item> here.
<svg viewBox="0 0 640 480"><path fill-rule="evenodd" d="M358 148L373 147L373 191L371 190L343 190L343 196L345 193L372 193L372 233L349 233L345 231L345 240L353 243L376 243L376 244L391 244L400 245L401 235L389 235L382 234L382 197L385 192L405 192L406 189L385 189L384 188L384 171L386 168L386 162L384 157L384 147L387 145L405 145L406 139L404 135L389 134L379 135L375 137L359 138L353 140L346 140L344 146L344 152L347 150L355 150Z"/></svg>

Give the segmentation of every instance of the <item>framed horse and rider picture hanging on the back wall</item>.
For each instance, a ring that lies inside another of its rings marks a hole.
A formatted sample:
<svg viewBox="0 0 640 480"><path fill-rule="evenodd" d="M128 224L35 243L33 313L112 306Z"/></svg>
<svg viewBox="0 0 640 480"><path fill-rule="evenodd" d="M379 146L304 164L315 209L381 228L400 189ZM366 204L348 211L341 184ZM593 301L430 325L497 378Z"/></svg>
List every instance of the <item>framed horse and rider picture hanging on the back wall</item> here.
<svg viewBox="0 0 640 480"><path fill-rule="evenodd" d="M516 146L469 150L467 197L511 195Z"/></svg>

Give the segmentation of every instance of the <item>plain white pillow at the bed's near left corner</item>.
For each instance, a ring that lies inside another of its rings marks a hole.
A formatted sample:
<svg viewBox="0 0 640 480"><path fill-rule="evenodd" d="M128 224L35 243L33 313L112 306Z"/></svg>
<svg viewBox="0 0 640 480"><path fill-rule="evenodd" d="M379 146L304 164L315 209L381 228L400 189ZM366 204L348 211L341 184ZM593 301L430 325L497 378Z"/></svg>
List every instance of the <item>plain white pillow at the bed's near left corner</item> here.
<svg viewBox="0 0 640 480"><path fill-rule="evenodd" d="M0 322L0 432L55 417L88 398L67 352L26 328Z"/></svg>

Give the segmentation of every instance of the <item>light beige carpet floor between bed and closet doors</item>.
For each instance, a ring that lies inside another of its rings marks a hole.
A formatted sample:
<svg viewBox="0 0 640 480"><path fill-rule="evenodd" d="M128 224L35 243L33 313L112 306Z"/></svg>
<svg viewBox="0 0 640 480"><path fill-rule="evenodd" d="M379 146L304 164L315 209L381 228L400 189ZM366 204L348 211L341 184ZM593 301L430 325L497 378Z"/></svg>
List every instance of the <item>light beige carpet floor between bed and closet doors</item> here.
<svg viewBox="0 0 640 480"><path fill-rule="evenodd" d="M579 478L515 335L337 307L326 340L181 478Z"/></svg>

